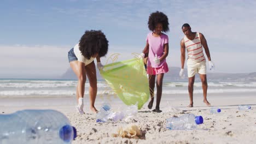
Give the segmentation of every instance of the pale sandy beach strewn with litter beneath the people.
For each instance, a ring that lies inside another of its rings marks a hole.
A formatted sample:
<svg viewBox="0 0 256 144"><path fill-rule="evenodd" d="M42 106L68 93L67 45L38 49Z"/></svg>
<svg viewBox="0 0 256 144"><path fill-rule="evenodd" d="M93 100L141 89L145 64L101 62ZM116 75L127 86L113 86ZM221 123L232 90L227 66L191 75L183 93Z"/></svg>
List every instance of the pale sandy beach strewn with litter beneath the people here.
<svg viewBox="0 0 256 144"><path fill-rule="evenodd" d="M186 94L164 94L160 104L161 113L147 108L147 103L130 121L117 123L96 123L96 114L89 111L88 97L85 97L85 115L75 109L73 97L63 98L1 98L0 112L12 113L23 109L54 109L64 113L77 128L78 136L73 143L254 143L256 136L256 95L254 93L208 94L212 106L222 109L219 114L211 114L210 108L202 102L202 95L194 95L194 107ZM112 111L119 111L124 105L117 97L97 97L96 108L108 101ZM154 103L155 104L155 103ZM252 110L238 110L238 105L251 105ZM153 105L154 108L155 105ZM176 110L175 110L175 109ZM194 130L168 130L166 119L194 113L202 116L203 124ZM140 139L113 137L119 127L135 124L141 129Z"/></svg>

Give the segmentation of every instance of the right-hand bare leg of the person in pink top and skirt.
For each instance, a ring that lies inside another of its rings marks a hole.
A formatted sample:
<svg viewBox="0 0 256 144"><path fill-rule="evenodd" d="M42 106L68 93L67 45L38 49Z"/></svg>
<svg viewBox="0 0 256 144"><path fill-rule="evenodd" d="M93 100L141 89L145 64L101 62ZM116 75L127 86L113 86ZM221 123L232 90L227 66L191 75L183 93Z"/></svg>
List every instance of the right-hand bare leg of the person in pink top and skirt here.
<svg viewBox="0 0 256 144"><path fill-rule="evenodd" d="M155 106L155 112L162 112L160 110L160 101L162 97L162 79L164 78L164 74L158 74L156 78L156 106Z"/></svg>

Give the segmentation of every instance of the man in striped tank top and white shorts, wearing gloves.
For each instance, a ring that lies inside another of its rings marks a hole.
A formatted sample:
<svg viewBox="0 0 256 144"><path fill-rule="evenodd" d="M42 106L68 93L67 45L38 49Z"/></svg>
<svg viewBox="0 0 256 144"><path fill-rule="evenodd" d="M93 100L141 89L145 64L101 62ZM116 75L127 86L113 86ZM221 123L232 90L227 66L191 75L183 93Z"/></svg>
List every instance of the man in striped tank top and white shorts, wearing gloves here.
<svg viewBox="0 0 256 144"><path fill-rule="evenodd" d="M185 50L187 50L187 67L189 79L188 91L190 99L190 104L188 105L188 107L193 107L193 90L196 73L200 75L200 79L202 81L203 103L205 103L207 106L211 106L206 98L208 85L206 78L206 59L203 55L203 49L205 49L210 69L214 68L214 64L211 62L210 51L208 49L206 39L203 34L199 32L191 32L191 27L188 23L185 23L182 26L182 31L185 35L184 38L181 40L181 71L179 72L179 76L182 77L184 73Z"/></svg>

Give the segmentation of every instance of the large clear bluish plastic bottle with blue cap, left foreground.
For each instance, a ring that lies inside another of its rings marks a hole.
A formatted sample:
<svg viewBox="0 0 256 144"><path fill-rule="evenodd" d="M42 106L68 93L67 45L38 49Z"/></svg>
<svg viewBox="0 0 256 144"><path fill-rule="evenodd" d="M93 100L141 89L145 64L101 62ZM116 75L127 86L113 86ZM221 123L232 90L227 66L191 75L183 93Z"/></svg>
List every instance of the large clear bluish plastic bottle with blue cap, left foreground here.
<svg viewBox="0 0 256 144"><path fill-rule="evenodd" d="M0 115L0 143L71 143L77 131L55 110L22 110Z"/></svg>

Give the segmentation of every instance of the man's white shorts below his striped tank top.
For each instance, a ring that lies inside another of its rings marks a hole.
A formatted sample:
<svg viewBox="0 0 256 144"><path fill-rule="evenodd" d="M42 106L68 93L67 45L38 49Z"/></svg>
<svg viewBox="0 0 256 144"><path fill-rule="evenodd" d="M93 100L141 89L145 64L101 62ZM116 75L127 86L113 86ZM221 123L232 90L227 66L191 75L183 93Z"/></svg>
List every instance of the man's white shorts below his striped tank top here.
<svg viewBox="0 0 256 144"><path fill-rule="evenodd" d="M193 77L195 74L206 75L206 61L195 62L191 59L187 61L188 77Z"/></svg>

